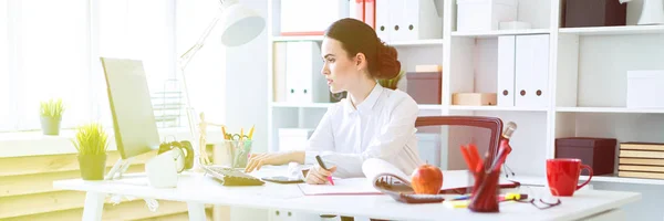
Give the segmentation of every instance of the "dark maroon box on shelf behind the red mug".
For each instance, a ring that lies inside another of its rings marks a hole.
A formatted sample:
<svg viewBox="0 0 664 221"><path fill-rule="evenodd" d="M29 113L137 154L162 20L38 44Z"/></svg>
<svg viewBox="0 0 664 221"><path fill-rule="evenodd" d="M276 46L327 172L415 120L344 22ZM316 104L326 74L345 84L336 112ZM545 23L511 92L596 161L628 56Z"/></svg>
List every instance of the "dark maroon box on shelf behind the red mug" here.
<svg viewBox="0 0 664 221"><path fill-rule="evenodd" d="M556 139L556 158L578 158L592 167L593 175L612 175L618 140L613 138L568 137ZM581 175L588 176L587 170Z"/></svg>

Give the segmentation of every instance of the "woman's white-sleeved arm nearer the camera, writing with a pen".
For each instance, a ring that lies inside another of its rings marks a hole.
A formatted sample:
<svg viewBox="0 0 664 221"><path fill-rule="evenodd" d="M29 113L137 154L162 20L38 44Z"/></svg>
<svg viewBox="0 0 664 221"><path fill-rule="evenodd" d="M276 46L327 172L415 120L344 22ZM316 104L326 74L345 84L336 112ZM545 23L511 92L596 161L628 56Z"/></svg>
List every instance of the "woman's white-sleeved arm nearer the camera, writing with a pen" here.
<svg viewBox="0 0 664 221"><path fill-rule="evenodd" d="M391 161L403 150L415 131L415 120L419 109L417 103L404 96L390 105L393 108L390 123L373 139L366 150L361 154L339 154L331 151L307 151L305 164L317 164L315 154L320 154L325 164L335 165L338 177L364 177L362 162L369 158L381 158ZM311 155L314 154L314 155Z"/></svg>

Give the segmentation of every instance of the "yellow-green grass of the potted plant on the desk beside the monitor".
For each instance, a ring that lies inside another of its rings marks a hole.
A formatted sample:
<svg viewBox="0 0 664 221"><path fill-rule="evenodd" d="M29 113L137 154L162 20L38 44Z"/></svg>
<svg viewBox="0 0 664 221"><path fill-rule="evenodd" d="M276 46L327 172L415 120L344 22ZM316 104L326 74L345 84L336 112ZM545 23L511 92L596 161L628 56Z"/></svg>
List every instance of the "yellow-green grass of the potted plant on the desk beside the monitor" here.
<svg viewBox="0 0 664 221"><path fill-rule="evenodd" d="M108 148L108 135L98 123L91 123L76 128L76 138L72 140L79 155L104 155Z"/></svg>

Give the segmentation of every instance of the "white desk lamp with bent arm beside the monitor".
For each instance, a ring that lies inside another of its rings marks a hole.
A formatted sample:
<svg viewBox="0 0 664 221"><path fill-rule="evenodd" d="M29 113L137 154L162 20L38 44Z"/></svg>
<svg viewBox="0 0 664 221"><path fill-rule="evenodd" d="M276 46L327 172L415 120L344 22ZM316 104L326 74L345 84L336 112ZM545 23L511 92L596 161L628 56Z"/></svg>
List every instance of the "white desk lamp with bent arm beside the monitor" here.
<svg viewBox="0 0 664 221"><path fill-rule="evenodd" d="M220 124L207 123L201 114L198 123L199 130L196 129L197 122L195 122L196 113L191 107L191 99L189 99L189 91L187 88L187 80L185 69L196 53L205 45L206 40L212 32L212 30L220 30L221 43L226 46L238 46L242 45L258 36L266 27L264 19L261 18L253 10L245 8L238 2L238 0L219 0L220 13L210 21L208 27L205 29L203 34L198 38L196 44L189 48L183 55L180 55L178 63L180 74L183 77L186 99L186 112L189 123L189 133L191 133L193 144L195 146L195 160L194 169L200 169L200 164L209 164L207 157L205 134L207 125L210 126L224 126ZM197 135L197 133L200 133ZM196 139L198 137L198 139ZM197 147L197 148L196 148Z"/></svg>

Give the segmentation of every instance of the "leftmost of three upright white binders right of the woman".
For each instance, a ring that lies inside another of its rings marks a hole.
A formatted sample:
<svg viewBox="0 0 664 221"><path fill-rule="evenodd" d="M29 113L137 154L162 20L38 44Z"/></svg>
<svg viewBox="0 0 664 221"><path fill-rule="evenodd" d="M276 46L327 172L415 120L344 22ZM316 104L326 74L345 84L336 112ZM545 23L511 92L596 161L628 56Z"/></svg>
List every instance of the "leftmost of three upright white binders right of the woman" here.
<svg viewBox="0 0 664 221"><path fill-rule="evenodd" d="M516 36L498 36L497 106L515 106Z"/></svg>

